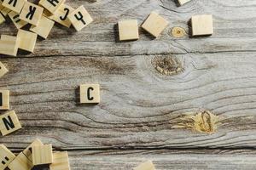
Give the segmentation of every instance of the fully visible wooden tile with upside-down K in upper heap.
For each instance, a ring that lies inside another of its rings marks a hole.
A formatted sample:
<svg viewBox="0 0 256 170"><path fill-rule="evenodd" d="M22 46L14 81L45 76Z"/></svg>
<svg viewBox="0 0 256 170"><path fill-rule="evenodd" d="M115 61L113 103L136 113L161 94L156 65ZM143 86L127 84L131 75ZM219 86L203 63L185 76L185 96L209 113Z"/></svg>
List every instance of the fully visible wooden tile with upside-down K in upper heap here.
<svg viewBox="0 0 256 170"><path fill-rule="evenodd" d="M26 2L20 13L20 20L24 20L33 26L38 26L44 8L33 3Z"/></svg>

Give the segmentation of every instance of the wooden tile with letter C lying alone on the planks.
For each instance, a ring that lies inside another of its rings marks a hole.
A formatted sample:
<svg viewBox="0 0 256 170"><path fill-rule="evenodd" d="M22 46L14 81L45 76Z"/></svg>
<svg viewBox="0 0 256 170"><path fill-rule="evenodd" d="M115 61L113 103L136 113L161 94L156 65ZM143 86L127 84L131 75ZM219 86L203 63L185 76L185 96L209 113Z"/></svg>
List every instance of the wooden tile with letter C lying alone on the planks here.
<svg viewBox="0 0 256 170"><path fill-rule="evenodd" d="M80 85L80 103L81 104L100 103L100 85L99 84Z"/></svg>

